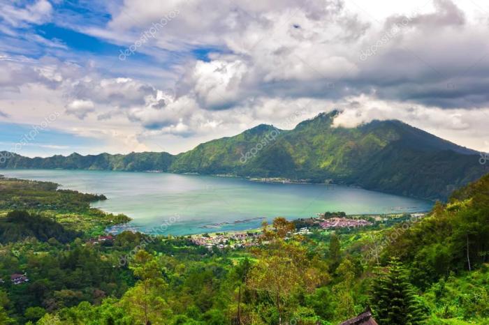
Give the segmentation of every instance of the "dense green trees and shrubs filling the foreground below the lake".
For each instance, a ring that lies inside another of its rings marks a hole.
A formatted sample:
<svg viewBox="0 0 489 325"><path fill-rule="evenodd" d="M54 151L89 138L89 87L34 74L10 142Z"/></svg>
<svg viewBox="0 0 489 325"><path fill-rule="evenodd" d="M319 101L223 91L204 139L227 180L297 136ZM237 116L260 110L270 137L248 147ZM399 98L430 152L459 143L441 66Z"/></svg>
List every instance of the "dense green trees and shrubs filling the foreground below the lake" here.
<svg viewBox="0 0 489 325"><path fill-rule="evenodd" d="M40 218L1 222L19 216ZM276 218L235 250L131 232L61 243L54 225L0 244L0 324L339 324L369 306L380 325L489 324L489 175L425 218L395 220L291 236Z"/></svg>

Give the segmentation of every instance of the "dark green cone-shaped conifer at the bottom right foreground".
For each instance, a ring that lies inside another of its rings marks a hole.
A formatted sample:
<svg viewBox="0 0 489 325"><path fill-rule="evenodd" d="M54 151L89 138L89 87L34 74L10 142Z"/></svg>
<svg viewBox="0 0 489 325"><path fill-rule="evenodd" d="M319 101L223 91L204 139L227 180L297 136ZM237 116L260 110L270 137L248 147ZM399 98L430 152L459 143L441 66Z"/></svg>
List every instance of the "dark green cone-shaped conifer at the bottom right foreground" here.
<svg viewBox="0 0 489 325"><path fill-rule="evenodd" d="M425 318L407 271L396 258L391 259L384 273L378 271L372 285L371 305L379 325L416 325Z"/></svg>

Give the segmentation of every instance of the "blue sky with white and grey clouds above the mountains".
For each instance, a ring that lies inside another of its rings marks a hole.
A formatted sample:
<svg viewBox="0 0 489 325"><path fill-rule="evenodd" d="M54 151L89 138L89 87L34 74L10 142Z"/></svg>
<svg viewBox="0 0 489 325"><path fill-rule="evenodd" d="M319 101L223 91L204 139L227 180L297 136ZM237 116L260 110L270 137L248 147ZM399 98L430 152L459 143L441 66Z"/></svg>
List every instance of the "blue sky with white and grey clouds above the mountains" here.
<svg viewBox="0 0 489 325"><path fill-rule="evenodd" d="M486 1L0 6L0 150L54 113L20 154L178 153L340 109L489 151Z"/></svg>

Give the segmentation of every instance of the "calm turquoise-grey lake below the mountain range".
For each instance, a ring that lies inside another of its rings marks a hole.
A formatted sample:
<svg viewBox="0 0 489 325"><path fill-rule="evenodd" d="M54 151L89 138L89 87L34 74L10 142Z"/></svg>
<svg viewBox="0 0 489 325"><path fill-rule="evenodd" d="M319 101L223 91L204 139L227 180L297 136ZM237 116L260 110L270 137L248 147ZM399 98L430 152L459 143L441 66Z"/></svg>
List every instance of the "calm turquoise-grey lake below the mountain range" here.
<svg viewBox="0 0 489 325"><path fill-rule="evenodd" d="M0 169L0 174L52 181L61 188L103 194L108 199L92 206L124 213L133 218L126 227L154 234L254 229L263 218L308 218L325 211L400 213L428 211L432 207L432 202L425 200L324 184L88 170ZM120 229L114 229L117 230Z"/></svg>

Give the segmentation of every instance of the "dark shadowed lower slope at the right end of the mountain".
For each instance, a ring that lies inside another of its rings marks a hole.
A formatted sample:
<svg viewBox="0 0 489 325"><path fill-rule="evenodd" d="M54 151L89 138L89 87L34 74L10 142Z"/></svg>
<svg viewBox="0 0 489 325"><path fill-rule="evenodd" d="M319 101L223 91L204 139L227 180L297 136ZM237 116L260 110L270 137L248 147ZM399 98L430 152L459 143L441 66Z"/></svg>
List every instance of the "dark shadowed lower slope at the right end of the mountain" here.
<svg viewBox="0 0 489 325"><path fill-rule="evenodd" d="M397 140L362 166L351 180L363 188L428 199L446 199L484 174L476 155L423 151Z"/></svg>

